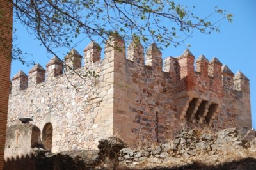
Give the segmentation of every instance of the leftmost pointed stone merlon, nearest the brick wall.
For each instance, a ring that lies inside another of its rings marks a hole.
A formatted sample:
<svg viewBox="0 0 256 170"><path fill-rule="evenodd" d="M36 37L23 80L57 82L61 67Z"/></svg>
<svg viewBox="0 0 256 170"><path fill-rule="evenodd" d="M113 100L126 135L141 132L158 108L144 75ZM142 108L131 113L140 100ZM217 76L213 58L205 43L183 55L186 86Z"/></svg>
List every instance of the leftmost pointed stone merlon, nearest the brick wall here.
<svg viewBox="0 0 256 170"><path fill-rule="evenodd" d="M20 70L12 78L12 93L28 88L28 75Z"/></svg>

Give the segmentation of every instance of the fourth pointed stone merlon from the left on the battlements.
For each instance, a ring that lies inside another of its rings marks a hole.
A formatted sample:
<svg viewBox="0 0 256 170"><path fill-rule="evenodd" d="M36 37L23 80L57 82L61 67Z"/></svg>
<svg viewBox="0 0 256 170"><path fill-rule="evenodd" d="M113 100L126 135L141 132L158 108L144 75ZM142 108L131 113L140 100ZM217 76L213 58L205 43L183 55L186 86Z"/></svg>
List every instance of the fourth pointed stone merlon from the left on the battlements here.
<svg viewBox="0 0 256 170"><path fill-rule="evenodd" d="M77 52L76 49L70 50L70 52L68 52L67 56L65 56L64 58L65 71L81 68L81 60L82 56L79 54L79 52Z"/></svg>

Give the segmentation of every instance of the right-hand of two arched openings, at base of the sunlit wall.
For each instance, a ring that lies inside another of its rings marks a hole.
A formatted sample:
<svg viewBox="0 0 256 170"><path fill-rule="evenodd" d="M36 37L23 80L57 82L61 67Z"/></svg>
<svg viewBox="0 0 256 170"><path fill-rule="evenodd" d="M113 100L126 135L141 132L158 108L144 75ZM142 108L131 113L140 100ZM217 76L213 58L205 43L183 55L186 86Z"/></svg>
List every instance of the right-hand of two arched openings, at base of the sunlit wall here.
<svg viewBox="0 0 256 170"><path fill-rule="evenodd" d="M42 143L45 150L52 150L52 124L46 123L42 132Z"/></svg>

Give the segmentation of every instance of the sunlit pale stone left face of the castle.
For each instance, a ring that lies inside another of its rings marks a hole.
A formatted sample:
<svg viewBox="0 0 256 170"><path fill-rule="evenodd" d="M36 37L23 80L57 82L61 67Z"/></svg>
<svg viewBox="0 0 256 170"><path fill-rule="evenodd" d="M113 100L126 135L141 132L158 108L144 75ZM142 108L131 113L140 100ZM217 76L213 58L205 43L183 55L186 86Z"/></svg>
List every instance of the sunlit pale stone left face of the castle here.
<svg viewBox="0 0 256 170"><path fill-rule="evenodd" d="M90 55L92 50L89 49L84 54ZM70 71L66 75L58 75L61 65L58 65L60 63L56 62L56 58L53 59L47 64L44 82L31 82L34 85L30 86L24 83L28 82L24 73L13 77L8 125L19 123L20 117L28 117L33 119L31 123L42 132L45 124L51 123L52 152L95 148L101 137L113 135L111 63L106 58L90 63L89 68L77 68L77 74ZM95 71L99 78L90 78L88 70ZM88 76L84 77L86 73ZM41 74L42 72L36 73ZM29 73L29 76L33 75ZM31 77L29 79L36 81Z"/></svg>

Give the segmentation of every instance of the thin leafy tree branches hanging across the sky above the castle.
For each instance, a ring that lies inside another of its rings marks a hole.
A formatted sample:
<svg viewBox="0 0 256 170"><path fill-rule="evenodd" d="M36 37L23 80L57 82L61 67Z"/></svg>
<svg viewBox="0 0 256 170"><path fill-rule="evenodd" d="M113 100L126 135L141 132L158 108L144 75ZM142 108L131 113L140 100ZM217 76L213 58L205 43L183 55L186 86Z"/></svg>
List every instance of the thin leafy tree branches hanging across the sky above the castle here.
<svg viewBox="0 0 256 170"><path fill-rule="evenodd" d="M10 0L9 0L10 1ZM220 31L232 14L215 8L204 18L168 0L14 0L15 19L29 27L49 52L70 47L79 35L105 42L118 33L125 42L142 40L160 48L180 45L195 30ZM212 15L220 15L211 20ZM19 52L19 51L18 51ZM22 53L19 53L22 54Z"/></svg>

